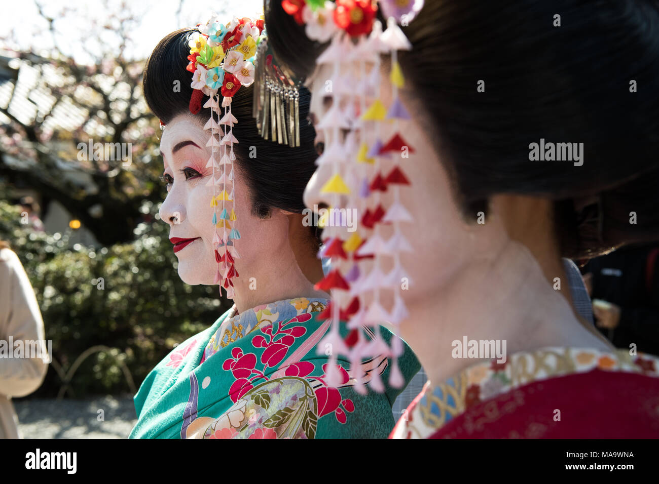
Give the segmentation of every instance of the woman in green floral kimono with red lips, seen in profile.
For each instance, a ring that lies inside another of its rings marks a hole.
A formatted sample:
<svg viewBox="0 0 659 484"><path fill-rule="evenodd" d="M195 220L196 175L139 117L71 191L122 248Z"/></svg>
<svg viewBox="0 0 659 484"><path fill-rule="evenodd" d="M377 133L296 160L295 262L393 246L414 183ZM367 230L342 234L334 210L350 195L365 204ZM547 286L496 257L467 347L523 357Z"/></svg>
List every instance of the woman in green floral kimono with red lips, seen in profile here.
<svg viewBox="0 0 659 484"><path fill-rule="evenodd" d="M323 277L318 228L302 215L317 157L314 129L301 123L297 147L259 134L254 87L244 79L262 61L252 58L261 41L262 21L211 19L169 34L147 61L144 94L164 125L160 216L179 275L187 284L221 284L235 304L146 377L135 396L132 438L386 438L395 423L391 402L401 389L358 392L348 362L329 363L331 348L320 345L329 295L314 286ZM241 86L233 86L237 77L229 73L243 68ZM202 90L203 70L210 74ZM176 80L180 92L172 90ZM309 99L301 88L301 119ZM233 145L224 147L231 136ZM341 333L348 335L345 325ZM407 346L402 361L407 381L419 368ZM389 367L383 354L364 362L359 376L385 378ZM339 376L337 388L329 387L329 373Z"/></svg>

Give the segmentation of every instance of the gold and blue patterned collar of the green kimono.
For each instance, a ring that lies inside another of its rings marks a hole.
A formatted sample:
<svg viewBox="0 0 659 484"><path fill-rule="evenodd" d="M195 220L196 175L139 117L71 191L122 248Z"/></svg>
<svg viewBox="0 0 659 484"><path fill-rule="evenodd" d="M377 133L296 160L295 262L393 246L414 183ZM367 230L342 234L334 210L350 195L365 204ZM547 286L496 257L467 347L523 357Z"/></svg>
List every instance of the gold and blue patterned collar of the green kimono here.
<svg viewBox="0 0 659 484"><path fill-rule="evenodd" d="M323 311L329 305L326 298L295 298L261 304L238 314L234 304L227 317L211 336L204 350L201 363L213 356L220 348L236 342L243 336L264 325L275 321L286 321L302 313L316 313Z"/></svg>

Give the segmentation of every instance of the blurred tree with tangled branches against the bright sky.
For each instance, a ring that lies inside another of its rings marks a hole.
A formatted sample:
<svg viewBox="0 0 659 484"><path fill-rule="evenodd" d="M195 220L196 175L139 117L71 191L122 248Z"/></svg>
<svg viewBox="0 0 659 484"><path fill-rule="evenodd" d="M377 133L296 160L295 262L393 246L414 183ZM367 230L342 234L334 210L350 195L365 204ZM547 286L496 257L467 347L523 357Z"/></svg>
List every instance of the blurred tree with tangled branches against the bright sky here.
<svg viewBox="0 0 659 484"><path fill-rule="evenodd" d="M74 9L48 14L42 2L35 3L53 47L47 53L37 53L34 47L11 51L11 61L5 57L5 72L15 72L9 79L0 79L13 84L9 102L0 106L0 118L4 115L9 120L0 127L0 177L57 200L101 244L132 240L142 217L142 202L163 200L158 180L161 167L150 163L156 155L159 128L142 97L144 61L126 57L130 32L138 21L126 3L113 13L106 0L103 25L91 20L80 32L76 48L93 59L90 65L80 65L62 53L57 31L59 20L74 14ZM9 36L3 38L5 45ZM17 90L32 73L36 80L27 90L24 86ZM72 122L76 115L77 121ZM88 140L92 144L130 143L130 166L124 166L122 159L88 157L86 149L81 160L77 146L87 145ZM75 176L67 176L71 173ZM81 183L80 175L92 183ZM98 205L101 217L98 210L90 211Z"/></svg>

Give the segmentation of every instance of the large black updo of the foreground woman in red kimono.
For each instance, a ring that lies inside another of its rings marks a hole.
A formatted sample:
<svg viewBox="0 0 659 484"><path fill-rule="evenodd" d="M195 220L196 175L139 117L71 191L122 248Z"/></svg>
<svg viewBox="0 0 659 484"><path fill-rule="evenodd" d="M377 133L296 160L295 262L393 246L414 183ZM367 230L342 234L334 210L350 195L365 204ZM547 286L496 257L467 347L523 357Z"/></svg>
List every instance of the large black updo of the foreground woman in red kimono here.
<svg viewBox="0 0 659 484"><path fill-rule="evenodd" d="M326 44L281 1L264 12L279 61L308 76ZM495 194L543 196L566 257L659 240L659 2L426 0L403 32L406 90L467 219ZM583 142L583 166L529 161L540 138Z"/></svg>

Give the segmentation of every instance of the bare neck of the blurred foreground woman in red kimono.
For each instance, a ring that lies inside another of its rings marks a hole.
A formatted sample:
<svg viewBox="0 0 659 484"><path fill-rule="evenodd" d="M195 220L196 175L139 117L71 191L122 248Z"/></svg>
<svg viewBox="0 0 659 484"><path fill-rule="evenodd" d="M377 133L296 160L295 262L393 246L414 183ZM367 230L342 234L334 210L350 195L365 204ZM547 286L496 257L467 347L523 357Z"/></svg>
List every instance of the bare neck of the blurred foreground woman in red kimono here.
<svg viewBox="0 0 659 484"><path fill-rule="evenodd" d="M544 346L612 350L577 319L566 298L569 286L559 261L543 263L543 272L526 246L506 238L498 248L469 259L450 284L440 288L438 298L416 302L401 330L428 379L441 383L478 362L453 358L452 342L462 343L465 336L505 340L507 355ZM560 290L549 282L554 277L561 281Z"/></svg>

